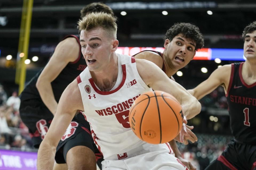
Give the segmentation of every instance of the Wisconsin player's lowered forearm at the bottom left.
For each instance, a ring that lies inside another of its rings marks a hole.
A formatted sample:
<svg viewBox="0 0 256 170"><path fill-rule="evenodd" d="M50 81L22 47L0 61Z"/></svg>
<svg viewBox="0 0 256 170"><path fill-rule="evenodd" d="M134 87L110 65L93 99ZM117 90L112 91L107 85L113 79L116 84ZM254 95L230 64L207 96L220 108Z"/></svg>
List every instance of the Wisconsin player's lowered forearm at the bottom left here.
<svg viewBox="0 0 256 170"><path fill-rule="evenodd" d="M37 154L37 170L53 169L56 147L43 140Z"/></svg>

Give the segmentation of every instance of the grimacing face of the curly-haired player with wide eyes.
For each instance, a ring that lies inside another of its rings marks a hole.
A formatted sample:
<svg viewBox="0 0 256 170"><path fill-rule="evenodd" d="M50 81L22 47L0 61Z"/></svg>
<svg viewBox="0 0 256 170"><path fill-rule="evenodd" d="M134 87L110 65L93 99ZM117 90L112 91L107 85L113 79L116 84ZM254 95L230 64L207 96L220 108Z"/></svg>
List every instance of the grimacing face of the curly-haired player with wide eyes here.
<svg viewBox="0 0 256 170"><path fill-rule="evenodd" d="M165 40L164 47L168 56L167 65L171 69L185 67L195 56L195 42L178 34L173 40Z"/></svg>

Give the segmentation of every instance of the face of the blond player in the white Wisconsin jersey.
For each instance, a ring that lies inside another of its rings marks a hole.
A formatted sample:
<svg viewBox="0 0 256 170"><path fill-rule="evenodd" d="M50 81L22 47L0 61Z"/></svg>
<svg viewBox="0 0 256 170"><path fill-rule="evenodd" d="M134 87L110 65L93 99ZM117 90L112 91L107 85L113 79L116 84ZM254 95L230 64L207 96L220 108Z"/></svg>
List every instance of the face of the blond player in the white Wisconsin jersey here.
<svg viewBox="0 0 256 170"><path fill-rule="evenodd" d="M80 44L90 71L102 71L110 62L111 39L101 27L81 31Z"/></svg>

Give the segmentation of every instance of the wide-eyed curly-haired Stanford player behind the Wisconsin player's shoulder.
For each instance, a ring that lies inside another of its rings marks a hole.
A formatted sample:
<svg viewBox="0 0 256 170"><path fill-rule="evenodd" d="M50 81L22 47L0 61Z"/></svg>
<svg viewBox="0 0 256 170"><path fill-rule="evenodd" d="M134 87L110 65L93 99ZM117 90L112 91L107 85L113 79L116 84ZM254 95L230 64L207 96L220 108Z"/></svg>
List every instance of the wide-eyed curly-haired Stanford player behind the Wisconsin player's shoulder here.
<svg viewBox="0 0 256 170"><path fill-rule="evenodd" d="M203 35L199 28L191 23L176 23L165 34L165 50L163 53L145 50L138 54L135 54L136 59L145 59L155 63L165 74L173 79L173 75L179 70L185 67L193 57L198 49L203 48L204 40ZM174 80L174 79L173 79ZM194 117L195 115L187 115L187 119ZM184 140L184 144L188 144L187 140L192 143L197 141L197 137L191 131L192 126L187 126L188 138ZM190 170L195 170L196 167L186 159L182 158L179 152L176 141L169 142L175 157L179 158L181 162L186 165Z"/></svg>

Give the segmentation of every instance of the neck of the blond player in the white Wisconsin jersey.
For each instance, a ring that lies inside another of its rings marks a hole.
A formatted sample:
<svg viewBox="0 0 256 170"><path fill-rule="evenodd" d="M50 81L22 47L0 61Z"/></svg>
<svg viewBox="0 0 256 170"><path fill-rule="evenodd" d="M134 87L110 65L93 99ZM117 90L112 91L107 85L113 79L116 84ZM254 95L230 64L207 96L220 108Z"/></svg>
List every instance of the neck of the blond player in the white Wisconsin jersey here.
<svg viewBox="0 0 256 170"><path fill-rule="evenodd" d="M115 53L104 70L91 72L91 77L93 78L94 83L101 91L110 91L117 81L117 76L118 59Z"/></svg>

